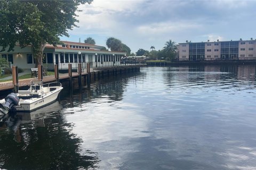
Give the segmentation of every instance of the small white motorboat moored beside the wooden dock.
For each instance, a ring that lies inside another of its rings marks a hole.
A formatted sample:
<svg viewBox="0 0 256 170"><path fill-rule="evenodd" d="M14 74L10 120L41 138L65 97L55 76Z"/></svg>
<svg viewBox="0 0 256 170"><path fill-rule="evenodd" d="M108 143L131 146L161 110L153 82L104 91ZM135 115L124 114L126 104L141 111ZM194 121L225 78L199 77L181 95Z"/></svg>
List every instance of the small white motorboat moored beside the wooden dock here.
<svg viewBox="0 0 256 170"><path fill-rule="evenodd" d="M43 84L43 80L31 80L28 90L19 90L17 94L8 96L12 100L19 100L18 105L15 105L17 112L32 112L53 103L62 89L62 84L59 82ZM15 95L18 99L15 98ZM0 100L0 103L6 103L6 98Z"/></svg>

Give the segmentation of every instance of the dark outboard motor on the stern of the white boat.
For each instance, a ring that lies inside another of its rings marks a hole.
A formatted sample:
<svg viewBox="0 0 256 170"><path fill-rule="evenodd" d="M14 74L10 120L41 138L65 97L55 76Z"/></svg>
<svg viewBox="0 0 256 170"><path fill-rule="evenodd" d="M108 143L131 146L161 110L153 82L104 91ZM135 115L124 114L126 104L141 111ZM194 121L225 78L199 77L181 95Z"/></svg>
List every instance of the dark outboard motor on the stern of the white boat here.
<svg viewBox="0 0 256 170"><path fill-rule="evenodd" d="M0 104L0 123L3 123L9 117L9 114L15 114L15 106L19 102L19 97L13 92L5 97L5 103Z"/></svg>

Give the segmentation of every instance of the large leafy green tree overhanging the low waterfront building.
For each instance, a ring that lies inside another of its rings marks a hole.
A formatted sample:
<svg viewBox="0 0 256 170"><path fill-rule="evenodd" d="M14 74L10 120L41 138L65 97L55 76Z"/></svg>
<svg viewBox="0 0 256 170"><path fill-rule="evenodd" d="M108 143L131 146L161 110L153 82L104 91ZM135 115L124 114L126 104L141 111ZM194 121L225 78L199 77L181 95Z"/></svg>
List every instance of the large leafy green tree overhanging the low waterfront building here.
<svg viewBox="0 0 256 170"><path fill-rule="evenodd" d="M93 0L2 0L0 1L1 52L13 50L16 43L31 46L36 66L42 64L46 43L56 46L60 36L77 27L78 5Z"/></svg>

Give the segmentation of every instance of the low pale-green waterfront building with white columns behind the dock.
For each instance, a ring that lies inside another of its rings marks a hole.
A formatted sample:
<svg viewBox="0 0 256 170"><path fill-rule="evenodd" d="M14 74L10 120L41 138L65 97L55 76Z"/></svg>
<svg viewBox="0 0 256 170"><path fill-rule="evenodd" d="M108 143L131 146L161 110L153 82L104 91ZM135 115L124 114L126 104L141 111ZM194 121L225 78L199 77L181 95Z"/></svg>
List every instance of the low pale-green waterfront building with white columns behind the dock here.
<svg viewBox="0 0 256 170"><path fill-rule="evenodd" d="M53 69L54 64L59 64L60 69L67 69L71 63L73 68L82 63L85 68L86 63L91 67L119 65L125 52L110 52L102 50L103 46L62 41L63 44L54 47L47 44L44 49L43 65L48 69ZM31 47L21 48L19 45L14 47L11 52L1 52L0 56L6 58L12 65L17 65L21 69L30 69L35 67L35 59L31 52Z"/></svg>

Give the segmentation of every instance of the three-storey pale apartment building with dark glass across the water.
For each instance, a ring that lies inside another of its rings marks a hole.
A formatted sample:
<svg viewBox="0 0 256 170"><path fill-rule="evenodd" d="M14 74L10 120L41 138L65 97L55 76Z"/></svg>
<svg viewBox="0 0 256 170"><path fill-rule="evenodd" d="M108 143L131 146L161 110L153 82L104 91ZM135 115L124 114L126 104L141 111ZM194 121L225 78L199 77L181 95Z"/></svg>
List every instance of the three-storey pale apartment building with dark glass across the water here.
<svg viewBox="0 0 256 170"><path fill-rule="evenodd" d="M256 40L179 43L179 61L256 60Z"/></svg>

